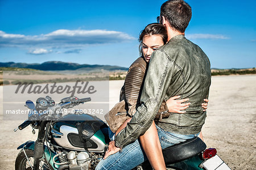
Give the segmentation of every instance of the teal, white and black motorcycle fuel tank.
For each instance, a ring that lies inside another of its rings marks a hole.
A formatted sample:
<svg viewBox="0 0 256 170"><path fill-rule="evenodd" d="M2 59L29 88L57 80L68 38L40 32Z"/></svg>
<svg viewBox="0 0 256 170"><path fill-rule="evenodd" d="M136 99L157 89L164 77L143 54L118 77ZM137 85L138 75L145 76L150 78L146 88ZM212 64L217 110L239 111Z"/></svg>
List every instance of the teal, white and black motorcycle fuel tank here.
<svg viewBox="0 0 256 170"><path fill-rule="evenodd" d="M55 142L69 150L104 152L109 142L108 126L96 116L68 114L53 122Z"/></svg>

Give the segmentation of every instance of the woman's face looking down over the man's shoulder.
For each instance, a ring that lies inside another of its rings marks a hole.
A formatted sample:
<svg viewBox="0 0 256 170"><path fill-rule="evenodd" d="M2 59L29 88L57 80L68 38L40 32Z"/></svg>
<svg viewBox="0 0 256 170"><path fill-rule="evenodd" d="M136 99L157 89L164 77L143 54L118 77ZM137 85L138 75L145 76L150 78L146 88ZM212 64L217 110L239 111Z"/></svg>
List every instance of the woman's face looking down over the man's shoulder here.
<svg viewBox="0 0 256 170"><path fill-rule="evenodd" d="M156 48L164 44L163 39L160 35L145 35L142 40L142 52L144 59L147 63L150 60L151 54Z"/></svg>

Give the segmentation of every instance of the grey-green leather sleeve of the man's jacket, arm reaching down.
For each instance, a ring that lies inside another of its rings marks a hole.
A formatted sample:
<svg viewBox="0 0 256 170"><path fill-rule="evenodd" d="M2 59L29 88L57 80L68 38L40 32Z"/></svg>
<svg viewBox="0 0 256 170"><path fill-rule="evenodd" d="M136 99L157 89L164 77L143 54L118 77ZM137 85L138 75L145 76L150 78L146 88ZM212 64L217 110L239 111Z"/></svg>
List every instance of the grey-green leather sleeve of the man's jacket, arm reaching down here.
<svg viewBox="0 0 256 170"><path fill-rule="evenodd" d="M115 146L122 148L134 142L151 126L170 85L173 63L160 50L152 53L142 89L141 106L127 126L115 136Z"/></svg>

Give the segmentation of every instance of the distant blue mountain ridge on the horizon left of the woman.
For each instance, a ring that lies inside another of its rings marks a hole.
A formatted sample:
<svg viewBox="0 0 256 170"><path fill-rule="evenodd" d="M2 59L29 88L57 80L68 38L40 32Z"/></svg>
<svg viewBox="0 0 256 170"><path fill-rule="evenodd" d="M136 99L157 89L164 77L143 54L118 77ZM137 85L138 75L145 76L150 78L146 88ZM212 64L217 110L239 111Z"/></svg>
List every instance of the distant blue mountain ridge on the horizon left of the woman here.
<svg viewBox="0 0 256 170"><path fill-rule="evenodd" d="M65 71L65 70L81 70L81 71L92 71L97 69L104 69L106 71L127 71L128 68L119 67L116 65L89 65L89 64L77 64L77 63L65 63L62 61L47 61L42 64L33 63L1 63L0 67L18 67L18 68L31 68L31 69L39 69L42 71Z"/></svg>

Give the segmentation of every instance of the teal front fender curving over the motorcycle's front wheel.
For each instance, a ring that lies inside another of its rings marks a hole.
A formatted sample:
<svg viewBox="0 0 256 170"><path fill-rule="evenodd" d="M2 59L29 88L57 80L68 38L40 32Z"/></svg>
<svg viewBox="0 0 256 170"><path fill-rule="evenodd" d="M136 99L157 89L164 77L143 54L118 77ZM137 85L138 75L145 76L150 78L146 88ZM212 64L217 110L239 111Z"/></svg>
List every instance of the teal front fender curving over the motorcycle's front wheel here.
<svg viewBox="0 0 256 170"><path fill-rule="evenodd" d="M34 142L34 141L27 141L27 142L21 144L21 145L17 148L17 150L22 149L23 147L24 147L24 149L34 151L35 142ZM53 161L52 161L52 157L55 156L56 154L51 151L51 158L50 158L50 153L49 153L48 147L47 147L46 145L44 145L44 154L46 155L46 157L44 157L44 155L43 155L43 158L45 158L46 160L49 160L49 159L50 159L49 164L51 164L51 166L52 166L53 169L59 168L60 165L56 165L56 164L54 164ZM60 163L59 160L55 160L55 161L56 161L57 163Z"/></svg>

